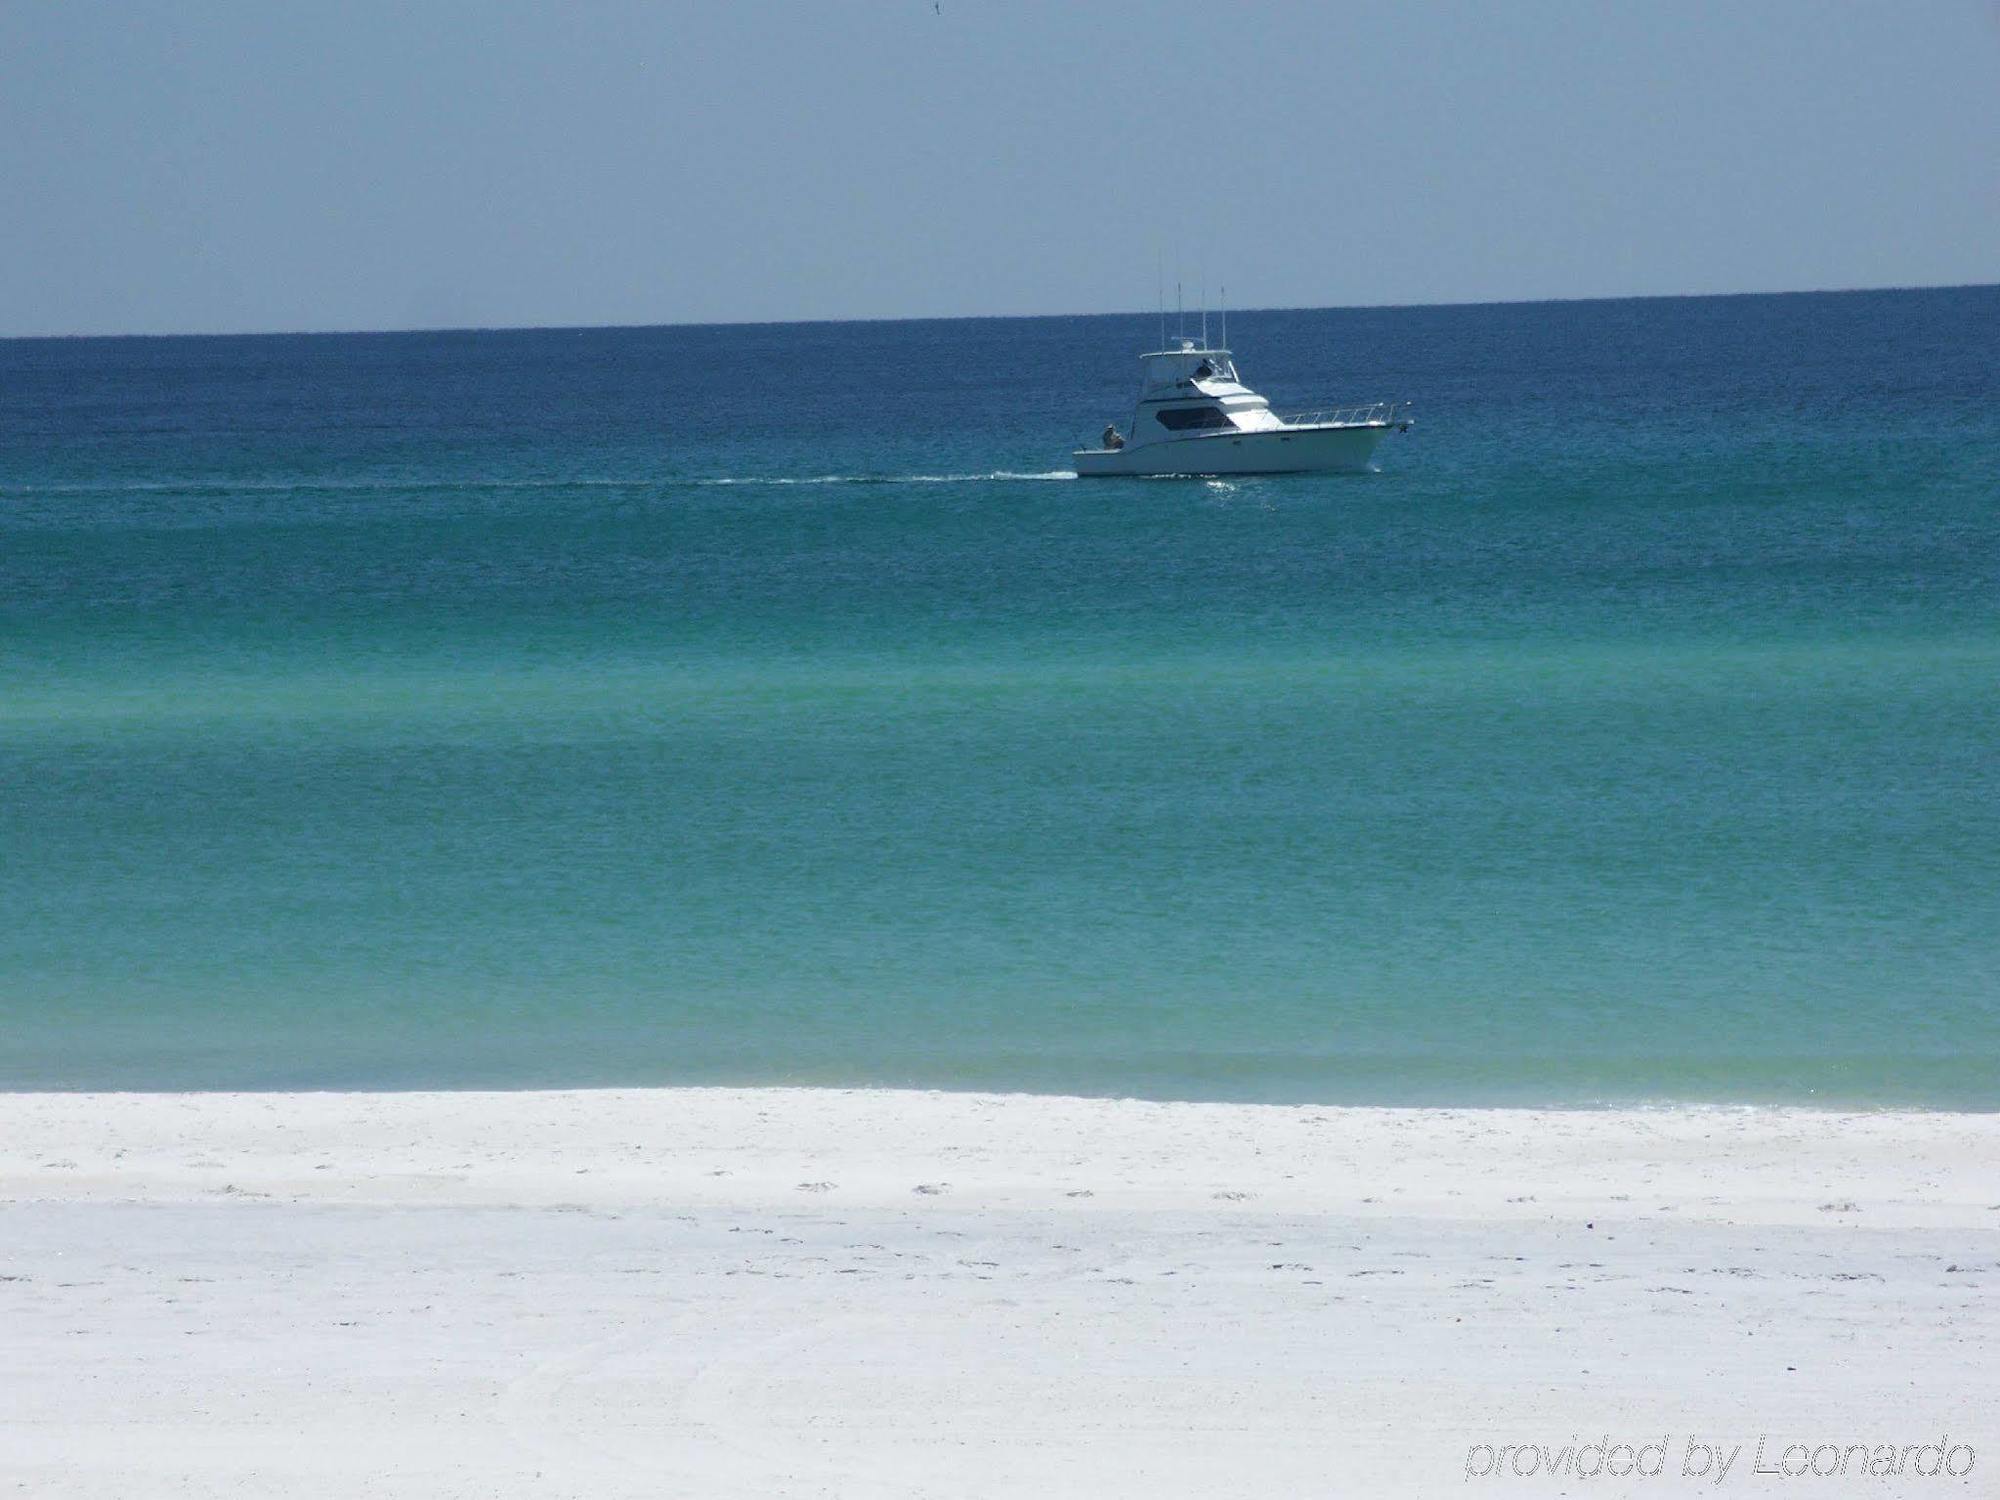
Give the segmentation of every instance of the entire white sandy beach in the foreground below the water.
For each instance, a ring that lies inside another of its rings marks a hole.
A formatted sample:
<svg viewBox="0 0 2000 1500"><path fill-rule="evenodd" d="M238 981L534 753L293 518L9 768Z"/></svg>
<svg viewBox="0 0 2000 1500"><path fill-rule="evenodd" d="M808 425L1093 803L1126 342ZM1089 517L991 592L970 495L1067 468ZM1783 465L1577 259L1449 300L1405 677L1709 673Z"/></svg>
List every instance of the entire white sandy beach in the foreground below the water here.
<svg viewBox="0 0 2000 1500"><path fill-rule="evenodd" d="M1996 1116L12 1094L0 1212L34 1496L2000 1494Z"/></svg>

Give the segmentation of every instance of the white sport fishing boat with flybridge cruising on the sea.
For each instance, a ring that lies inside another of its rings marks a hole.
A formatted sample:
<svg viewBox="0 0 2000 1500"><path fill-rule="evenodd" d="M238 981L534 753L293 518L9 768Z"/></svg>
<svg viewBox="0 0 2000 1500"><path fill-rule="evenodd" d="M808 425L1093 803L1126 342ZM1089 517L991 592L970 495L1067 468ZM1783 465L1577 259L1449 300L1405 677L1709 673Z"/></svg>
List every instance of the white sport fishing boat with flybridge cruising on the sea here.
<svg viewBox="0 0 2000 1500"><path fill-rule="evenodd" d="M1376 444L1410 430L1404 402L1336 406L1278 416L1236 376L1226 348L1182 338L1140 354L1144 378L1132 430L1104 428L1098 448L1078 448L1078 478L1110 474L1358 474Z"/></svg>

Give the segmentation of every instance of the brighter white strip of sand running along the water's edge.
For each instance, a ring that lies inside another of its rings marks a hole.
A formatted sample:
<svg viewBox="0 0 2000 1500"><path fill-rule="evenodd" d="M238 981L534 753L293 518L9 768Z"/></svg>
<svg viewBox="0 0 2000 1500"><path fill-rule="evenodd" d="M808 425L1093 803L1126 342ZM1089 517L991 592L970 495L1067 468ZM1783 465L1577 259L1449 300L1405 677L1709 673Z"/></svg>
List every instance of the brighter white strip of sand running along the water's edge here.
<svg viewBox="0 0 2000 1500"><path fill-rule="evenodd" d="M1492 1218L1664 1212L1652 1196L1756 1222L2000 1228L2000 1114L874 1088L0 1094L0 1202L788 1204L824 1184L826 1204L882 1206L938 1182L996 1210L1392 1212L1386 1192Z"/></svg>

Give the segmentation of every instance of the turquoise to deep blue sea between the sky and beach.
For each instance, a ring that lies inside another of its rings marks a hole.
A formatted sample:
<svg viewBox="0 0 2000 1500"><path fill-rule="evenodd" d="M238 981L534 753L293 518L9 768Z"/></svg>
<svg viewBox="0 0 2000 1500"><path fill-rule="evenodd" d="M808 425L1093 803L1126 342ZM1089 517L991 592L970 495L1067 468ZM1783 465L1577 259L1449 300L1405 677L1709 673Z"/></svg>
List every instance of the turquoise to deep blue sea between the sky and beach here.
<svg viewBox="0 0 2000 1500"><path fill-rule="evenodd" d="M2000 288L0 342L0 1086L2000 1106Z"/></svg>

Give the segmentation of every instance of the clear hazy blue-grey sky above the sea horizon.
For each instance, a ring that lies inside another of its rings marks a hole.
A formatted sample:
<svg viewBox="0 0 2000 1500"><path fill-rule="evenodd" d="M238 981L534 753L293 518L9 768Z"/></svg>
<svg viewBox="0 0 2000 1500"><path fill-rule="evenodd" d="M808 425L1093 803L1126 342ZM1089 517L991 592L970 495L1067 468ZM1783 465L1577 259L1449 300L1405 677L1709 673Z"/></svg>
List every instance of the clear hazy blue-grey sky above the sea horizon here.
<svg viewBox="0 0 2000 1500"><path fill-rule="evenodd" d="M0 0L0 334L1096 312L1156 254L2000 280L2000 6Z"/></svg>

